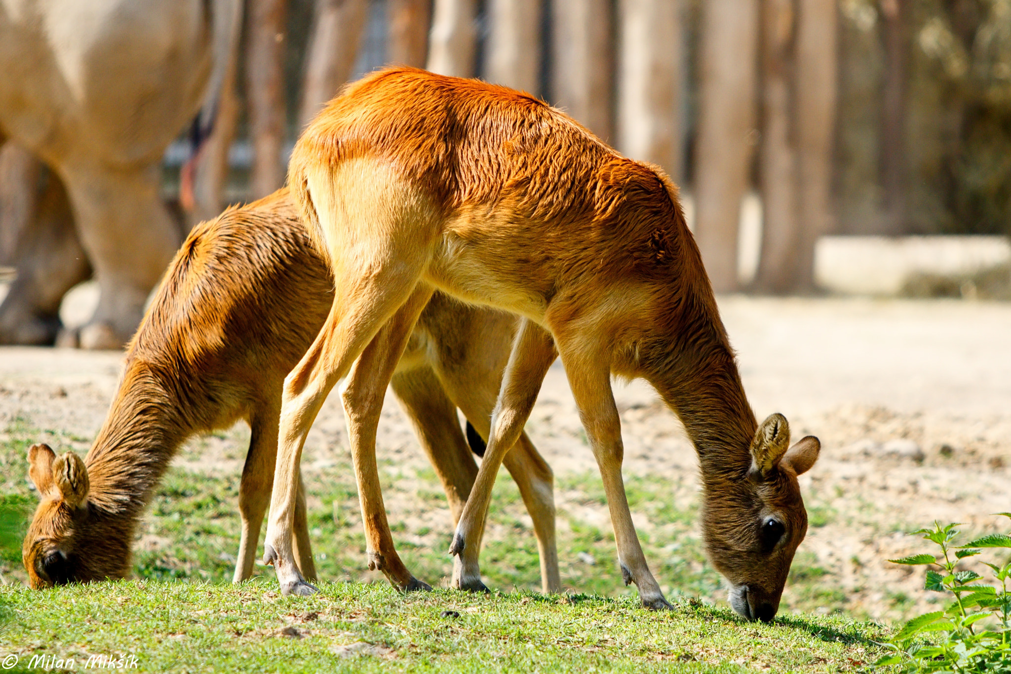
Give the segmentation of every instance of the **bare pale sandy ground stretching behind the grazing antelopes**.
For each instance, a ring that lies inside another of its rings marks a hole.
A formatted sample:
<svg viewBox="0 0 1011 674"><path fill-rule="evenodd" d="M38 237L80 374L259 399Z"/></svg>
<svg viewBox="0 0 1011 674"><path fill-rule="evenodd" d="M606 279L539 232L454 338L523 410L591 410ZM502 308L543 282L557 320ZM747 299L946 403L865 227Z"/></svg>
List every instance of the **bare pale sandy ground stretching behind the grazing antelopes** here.
<svg viewBox="0 0 1011 674"><path fill-rule="evenodd" d="M921 576L885 562L928 550L903 531L935 518L974 532L1011 527L990 515L1011 510L1011 304L728 296L720 306L757 415L780 411L795 438L822 440L803 487L825 523L812 526L802 551L830 572L851 608L890 617L903 593L920 603ZM113 353L0 349L0 427L20 417L86 442L104 418L120 361ZM695 475L680 424L652 391L634 382L616 384L615 393L627 474ZM556 473L595 470L558 363L528 430ZM426 465L391 396L379 434L380 455ZM313 448L343 445L343 413L332 398L303 465L326 460ZM208 456L201 467L239 470L240 458ZM607 511L587 516L606 521Z"/></svg>

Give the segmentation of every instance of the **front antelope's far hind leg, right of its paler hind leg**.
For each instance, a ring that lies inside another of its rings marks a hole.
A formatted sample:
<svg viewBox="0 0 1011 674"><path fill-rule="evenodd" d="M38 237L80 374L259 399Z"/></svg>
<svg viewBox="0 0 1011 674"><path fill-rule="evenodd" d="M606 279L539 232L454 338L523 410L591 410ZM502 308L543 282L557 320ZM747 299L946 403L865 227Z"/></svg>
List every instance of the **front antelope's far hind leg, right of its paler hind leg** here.
<svg viewBox="0 0 1011 674"><path fill-rule="evenodd" d="M386 520L379 471L376 467L376 426L382 411L386 384L400 360L432 289L420 284L410 298L373 338L355 363L342 394L348 421L351 455L358 480L358 498L365 527L369 569L382 571L390 584L403 591L431 590L415 578L400 561Z"/></svg>

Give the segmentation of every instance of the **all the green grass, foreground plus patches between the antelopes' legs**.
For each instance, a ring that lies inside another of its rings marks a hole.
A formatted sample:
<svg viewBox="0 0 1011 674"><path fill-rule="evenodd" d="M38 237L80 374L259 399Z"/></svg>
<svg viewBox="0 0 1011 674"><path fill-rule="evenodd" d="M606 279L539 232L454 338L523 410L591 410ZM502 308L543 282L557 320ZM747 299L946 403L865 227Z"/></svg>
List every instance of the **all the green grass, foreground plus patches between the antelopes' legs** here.
<svg viewBox="0 0 1011 674"><path fill-rule="evenodd" d="M248 429L238 426L196 441L182 459L195 461L209 444L223 443L223 457L241 460L248 439ZM23 420L0 434L0 534L6 532L0 572L8 579L24 575L20 540L36 499L24 456L39 440L59 452L83 454L88 447L87 439L34 429ZM239 471L173 468L134 542L136 580L42 592L0 588L0 661L14 653L24 667L32 655L48 654L74 657L80 668L89 654L113 653L136 656L148 671L853 671L877 659L871 642L888 632L839 615L845 594L804 551L774 624L746 623L725 604L714 605L725 590L699 539L694 481L627 477L647 559L676 608L652 613L639 606L634 587L621 583L595 474L556 480L568 594L552 597L535 593L537 546L504 471L481 556L485 582L502 593L488 596L447 589L397 594L366 568L350 458L338 453L304 474L319 595L279 596L273 571L259 564L253 581L229 585L239 545ZM437 510L446 501L434 472L380 461L380 474L401 557L417 577L445 587L452 529L448 511ZM832 615L797 613L826 607ZM443 617L445 610L460 615ZM301 621L313 612L315 619ZM289 627L302 636L282 636ZM373 655L335 652L357 642L373 645L360 647Z"/></svg>

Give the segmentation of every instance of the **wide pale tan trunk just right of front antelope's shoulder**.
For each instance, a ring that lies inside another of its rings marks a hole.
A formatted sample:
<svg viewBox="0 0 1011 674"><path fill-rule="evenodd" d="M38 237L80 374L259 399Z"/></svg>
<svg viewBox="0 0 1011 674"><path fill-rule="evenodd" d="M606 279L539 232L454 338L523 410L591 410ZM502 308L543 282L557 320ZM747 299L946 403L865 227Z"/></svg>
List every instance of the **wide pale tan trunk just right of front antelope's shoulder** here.
<svg viewBox="0 0 1011 674"><path fill-rule="evenodd" d="M737 290L737 233L754 128L756 0L708 0L702 9L696 237L717 292Z"/></svg>

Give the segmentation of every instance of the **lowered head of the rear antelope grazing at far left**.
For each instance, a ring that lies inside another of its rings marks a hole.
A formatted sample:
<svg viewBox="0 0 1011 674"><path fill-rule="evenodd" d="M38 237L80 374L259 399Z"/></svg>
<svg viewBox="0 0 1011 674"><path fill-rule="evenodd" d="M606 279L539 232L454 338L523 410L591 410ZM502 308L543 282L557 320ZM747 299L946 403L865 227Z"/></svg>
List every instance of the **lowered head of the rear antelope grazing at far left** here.
<svg viewBox="0 0 1011 674"><path fill-rule="evenodd" d="M21 548L28 584L41 589L124 577L129 570L128 537L103 526L88 500L84 461L73 452L58 458L48 445L32 445L28 464L40 498Z"/></svg>

